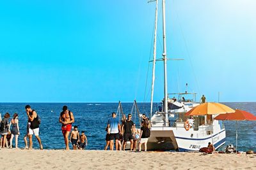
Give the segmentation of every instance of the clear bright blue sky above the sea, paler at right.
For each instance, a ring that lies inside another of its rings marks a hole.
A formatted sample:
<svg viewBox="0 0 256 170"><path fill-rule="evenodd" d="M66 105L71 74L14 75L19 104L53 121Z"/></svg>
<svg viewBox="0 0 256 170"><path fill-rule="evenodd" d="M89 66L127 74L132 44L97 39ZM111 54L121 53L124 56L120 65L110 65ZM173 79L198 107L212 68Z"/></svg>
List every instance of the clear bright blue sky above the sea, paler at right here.
<svg viewBox="0 0 256 170"><path fill-rule="evenodd" d="M253 0L166 0L168 58L184 59L168 62L169 92L189 83L208 101L218 92L255 101L255 9ZM143 101L154 10L147 0L1 1L0 102ZM162 71L158 62L154 101Z"/></svg>

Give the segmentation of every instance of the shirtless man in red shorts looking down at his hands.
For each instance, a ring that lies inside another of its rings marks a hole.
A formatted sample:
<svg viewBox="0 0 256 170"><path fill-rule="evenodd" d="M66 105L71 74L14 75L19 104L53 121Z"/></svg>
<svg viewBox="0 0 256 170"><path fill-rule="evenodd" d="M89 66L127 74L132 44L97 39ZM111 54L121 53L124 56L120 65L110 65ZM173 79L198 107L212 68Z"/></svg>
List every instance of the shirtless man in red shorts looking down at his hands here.
<svg viewBox="0 0 256 170"><path fill-rule="evenodd" d="M62 124L61 130L62 130L62 134L64 137L66 150L69 150L68 135L71 131L72 123L75 122L75 119L74 119L74 115L73 115L72 111L69 111L67 106L63 106L62 110L63 111L60 113L59 121Z"/></svg>

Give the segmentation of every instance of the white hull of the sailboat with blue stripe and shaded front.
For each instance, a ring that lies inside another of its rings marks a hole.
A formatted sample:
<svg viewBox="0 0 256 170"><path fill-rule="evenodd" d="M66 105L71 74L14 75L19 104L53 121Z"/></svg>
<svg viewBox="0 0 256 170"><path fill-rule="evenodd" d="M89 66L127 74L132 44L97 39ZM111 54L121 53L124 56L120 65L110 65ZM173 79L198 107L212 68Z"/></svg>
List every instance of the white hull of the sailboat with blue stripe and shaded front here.
<svg viewBox="0 0 256 170"><path fill-rule="evenodd" d="M186 133L186 134L185 134ZM177 133L176 128L169 130L151 130L148 138L148 150L176 150L180 152L199 151L200 148L207 147L208 143L214 143L214 148L218 149L225 144L225 129L209 134L204 137L195 134L195 131L186 131L182 135ZM182 136L182 137L181 137Z"/></svg>

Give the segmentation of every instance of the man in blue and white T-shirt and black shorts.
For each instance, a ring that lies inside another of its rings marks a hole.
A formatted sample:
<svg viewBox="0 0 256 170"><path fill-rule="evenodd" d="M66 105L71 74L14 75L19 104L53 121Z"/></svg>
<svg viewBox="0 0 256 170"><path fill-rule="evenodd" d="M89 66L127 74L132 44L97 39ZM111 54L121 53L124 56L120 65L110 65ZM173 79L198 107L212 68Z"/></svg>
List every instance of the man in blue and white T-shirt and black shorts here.
<svg viewBox="0 0 256 170"><path fill-rule="evenodd" d="M121 150L121 147L118 147L118 145L121 145L121 142L119 140L119 133L121 132L120 129L120 123L118 118L116 118L116 113L112 113L112 117L108 120L108 128L110 128L110 150L114 150L114 139L115 139L115 145L116 150Z"/></svg>

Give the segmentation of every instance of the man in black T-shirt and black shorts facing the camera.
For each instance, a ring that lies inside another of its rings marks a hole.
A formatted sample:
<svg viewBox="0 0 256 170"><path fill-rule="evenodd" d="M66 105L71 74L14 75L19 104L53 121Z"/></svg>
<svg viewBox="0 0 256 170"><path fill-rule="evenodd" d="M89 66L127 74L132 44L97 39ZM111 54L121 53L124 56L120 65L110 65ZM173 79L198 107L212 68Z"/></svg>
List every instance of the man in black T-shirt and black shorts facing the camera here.
<svg viewBox="0 0 256 170"><path fill-rule="evenodd" d="M128 120L126 120L126 122L124 123L124 127L122 129L124 129L124 147L123 150L125 150L125 145L127 143L127 141L130 141L131 146L130 146L130 150L132 151L133 148L133 136L132 136L132 115L129 114L128 115Z"/></svg>

